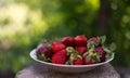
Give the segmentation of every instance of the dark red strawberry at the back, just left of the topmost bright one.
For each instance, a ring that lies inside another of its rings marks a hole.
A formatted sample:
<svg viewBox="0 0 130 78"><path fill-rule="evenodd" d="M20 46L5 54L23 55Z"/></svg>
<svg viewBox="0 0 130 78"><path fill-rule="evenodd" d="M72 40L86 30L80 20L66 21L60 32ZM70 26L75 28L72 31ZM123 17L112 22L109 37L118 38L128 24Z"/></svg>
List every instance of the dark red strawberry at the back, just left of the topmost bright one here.
<svg viewBox="0 0 130 78"><path fill-rule="evenodd" d="M73 47L75 44L75 39L73 37L64 37L61 41L67 47Z"/></svg>

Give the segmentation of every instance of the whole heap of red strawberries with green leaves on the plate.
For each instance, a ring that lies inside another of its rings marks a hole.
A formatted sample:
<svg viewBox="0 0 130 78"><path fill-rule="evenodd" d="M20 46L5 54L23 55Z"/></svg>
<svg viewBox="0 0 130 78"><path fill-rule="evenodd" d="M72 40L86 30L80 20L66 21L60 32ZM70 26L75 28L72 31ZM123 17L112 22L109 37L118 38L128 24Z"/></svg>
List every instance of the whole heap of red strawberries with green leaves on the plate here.
<svg viewBox="0 0 130 78"><path fill-rule="evenodd" d="M37 57L40 61L65 64L89 65L105 62L113 51L104 46L106 37L87 39L83 35L64 37L60 41L43 41L37 48Z"/></svg>

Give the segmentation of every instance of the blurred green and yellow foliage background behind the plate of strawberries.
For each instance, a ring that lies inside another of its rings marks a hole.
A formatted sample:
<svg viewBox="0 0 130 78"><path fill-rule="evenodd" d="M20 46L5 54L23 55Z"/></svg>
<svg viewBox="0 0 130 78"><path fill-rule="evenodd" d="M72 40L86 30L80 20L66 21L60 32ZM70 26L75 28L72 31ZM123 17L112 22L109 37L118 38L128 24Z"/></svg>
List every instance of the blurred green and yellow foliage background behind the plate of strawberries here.
<svg viewBox="0 0 130 78"><path fill-rule="evenodd" d="M77 35L106 35L112 64L130 66L130 0L0 0L0 75L35 63L29 52L43 39Z"/></svg>

